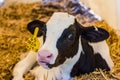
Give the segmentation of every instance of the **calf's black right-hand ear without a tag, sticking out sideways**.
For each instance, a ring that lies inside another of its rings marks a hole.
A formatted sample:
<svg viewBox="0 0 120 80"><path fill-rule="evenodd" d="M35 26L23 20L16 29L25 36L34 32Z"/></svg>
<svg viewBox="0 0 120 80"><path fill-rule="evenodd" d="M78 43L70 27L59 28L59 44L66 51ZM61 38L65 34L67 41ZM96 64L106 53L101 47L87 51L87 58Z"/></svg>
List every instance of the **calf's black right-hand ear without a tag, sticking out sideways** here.
<svg viewBox="0 0 120 80"><path fill-rule="evenodd" d="M89 42L99 42L107 39L109 37L109 33L102 28L91 26L83 28L81 36Z"/></svg>

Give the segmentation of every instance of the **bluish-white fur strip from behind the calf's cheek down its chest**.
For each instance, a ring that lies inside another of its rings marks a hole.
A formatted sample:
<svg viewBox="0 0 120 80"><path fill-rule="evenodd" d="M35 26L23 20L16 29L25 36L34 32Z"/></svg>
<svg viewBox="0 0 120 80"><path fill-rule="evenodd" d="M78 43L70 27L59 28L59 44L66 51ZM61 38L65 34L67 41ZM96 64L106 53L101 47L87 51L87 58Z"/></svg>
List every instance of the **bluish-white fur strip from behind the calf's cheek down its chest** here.
<svg viewBox="0 0 120 80"><path fill-rule="evenodd" d="M61 75L64 78L63 80L73 80L70 77L70 73L71 73L71 70L72 70L73 66L75 65L75 63L79 60L81 51L82 51L82 45L81 45L81 38L80 38L77 54L75 56L73 56L72 58L66 59L66 61L59 66Z"/></svg>

